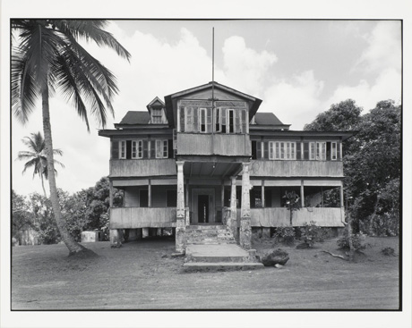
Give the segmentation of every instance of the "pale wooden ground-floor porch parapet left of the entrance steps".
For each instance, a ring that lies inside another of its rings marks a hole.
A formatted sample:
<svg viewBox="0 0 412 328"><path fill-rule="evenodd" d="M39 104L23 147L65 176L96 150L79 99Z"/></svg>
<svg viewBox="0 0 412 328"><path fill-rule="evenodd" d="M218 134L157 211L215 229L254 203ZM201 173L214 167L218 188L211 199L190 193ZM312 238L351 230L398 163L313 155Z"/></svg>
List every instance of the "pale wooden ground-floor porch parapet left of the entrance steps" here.
<svg viewBox="0 0 412 328"><path fill-rule="evenodd" d="M110 229L176 227L176 207L110 208Z"/></svg>

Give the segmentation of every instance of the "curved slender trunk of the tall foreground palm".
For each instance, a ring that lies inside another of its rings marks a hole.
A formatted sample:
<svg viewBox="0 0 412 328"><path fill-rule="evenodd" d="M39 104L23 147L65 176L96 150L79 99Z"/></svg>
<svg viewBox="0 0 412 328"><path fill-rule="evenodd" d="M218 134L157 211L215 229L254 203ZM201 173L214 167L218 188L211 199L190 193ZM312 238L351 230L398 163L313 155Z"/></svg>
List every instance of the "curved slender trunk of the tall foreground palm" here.
<svg viewBox="0 0 412 328"><path fill-rule="evenodd" d="M50 200L52 203L57 228L60 231L60 235L62 237L62 240L64 241L65 246L69 248L70 255L72 255L81 252L84 248L82 247L82 245L73 240L73 237L70 235L69 231L67 231L62 213L60 211L60 204L56 187L55 165L53 160L53 142L51 135L47 82L41 89L41 99L43 111L43 131L45 135L45 150L47 157L48 184L50 186Z"/></svg>

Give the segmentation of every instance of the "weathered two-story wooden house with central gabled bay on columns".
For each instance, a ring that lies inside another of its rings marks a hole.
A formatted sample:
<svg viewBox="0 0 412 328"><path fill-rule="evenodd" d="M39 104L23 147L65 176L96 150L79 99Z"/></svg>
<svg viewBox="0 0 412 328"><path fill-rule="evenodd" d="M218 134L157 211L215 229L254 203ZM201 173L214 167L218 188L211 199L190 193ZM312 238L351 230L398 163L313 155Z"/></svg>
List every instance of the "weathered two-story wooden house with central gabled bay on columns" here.
<svg viewBox="0 0 412 328"><path fill-rule="evenodd" d="M124 206L110 209L112 244L120 231L174 228L184 251L190 231L202 241L196 228L214 226L247 249L253 232L289 224L283 196L292 190L302 206L294 226L344 226L342 141L352 132L289 130L258 113L261 99L217 82L164 99L99 131L110 138L111 189L124 190ZM328 189L339 189L335 207L323 202Z"/></svg>

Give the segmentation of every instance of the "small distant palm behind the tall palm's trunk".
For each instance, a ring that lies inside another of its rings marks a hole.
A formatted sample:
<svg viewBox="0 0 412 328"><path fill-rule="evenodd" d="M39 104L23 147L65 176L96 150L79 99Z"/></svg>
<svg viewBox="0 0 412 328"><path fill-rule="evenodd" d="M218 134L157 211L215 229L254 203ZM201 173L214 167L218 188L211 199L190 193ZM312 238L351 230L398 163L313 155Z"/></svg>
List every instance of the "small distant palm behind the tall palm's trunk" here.
<svg viewBox="0 0 412 328"><path fill-rule="evenodd" d="M17 159L21 161L29 160L24 164L24 172L30 167L34 167L33 171L33 179L36 174L39 174L41 180L41 187L43 188L43 192L45 197L47 198L47 193L45 189L44 179L47 180L48 173L47 173L47 158L45 154L45 140L41 135L41 132L38 133L31 133L31 137L24 137L21 142L29 148L28 151L20 151L17 155ZM63 152L60 149L53 149L54 155L62 156ZM54 160L55 164L59 164L60 166L64 167L64 164L60 163L56 159ZM55 169L55 173L57 171ZM43 179L44 178L44 179Z"/></svg>

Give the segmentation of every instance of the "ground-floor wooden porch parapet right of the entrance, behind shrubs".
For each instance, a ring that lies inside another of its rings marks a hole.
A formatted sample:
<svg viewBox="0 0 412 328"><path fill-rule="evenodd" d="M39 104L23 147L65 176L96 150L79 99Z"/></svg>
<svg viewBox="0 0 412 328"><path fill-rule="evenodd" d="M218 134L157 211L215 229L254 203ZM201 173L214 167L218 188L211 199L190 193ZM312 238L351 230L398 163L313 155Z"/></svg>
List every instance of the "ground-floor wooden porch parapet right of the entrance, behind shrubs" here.
<svg viewBox="0 0 412 328"><path fill-rule="evenodd" d="M289 225L289 211L285 207L251 208L253 227L279 227ZM343 208L304 207L293 214L293 225L302 226L314 221L323 227L343 227Z"/></svg>

